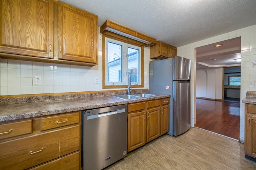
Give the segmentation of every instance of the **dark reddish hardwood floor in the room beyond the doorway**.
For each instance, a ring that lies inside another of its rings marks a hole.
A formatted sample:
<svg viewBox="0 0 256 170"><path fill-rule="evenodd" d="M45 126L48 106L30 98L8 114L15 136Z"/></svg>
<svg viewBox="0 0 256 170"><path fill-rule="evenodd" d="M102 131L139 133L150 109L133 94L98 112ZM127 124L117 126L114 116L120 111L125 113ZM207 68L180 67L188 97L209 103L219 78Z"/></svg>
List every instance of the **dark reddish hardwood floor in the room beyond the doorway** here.
<svg viewBox="0 0 256 170"><path fill-rule="evenodd" d="M196 99L196 126L238 140L240 102Z"/></svg>

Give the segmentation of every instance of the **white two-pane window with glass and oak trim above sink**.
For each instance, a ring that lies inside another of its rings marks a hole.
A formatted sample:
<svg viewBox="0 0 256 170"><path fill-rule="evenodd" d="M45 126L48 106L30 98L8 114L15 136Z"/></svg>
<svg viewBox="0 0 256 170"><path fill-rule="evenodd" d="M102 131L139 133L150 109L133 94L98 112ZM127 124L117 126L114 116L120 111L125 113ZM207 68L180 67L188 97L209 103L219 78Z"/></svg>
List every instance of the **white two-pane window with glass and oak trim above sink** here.
<svg viewBox="0 0 256 170"><path fill-rule="evenodd" d="M103 88L143 87L144 46L103 35Z"/></svg>

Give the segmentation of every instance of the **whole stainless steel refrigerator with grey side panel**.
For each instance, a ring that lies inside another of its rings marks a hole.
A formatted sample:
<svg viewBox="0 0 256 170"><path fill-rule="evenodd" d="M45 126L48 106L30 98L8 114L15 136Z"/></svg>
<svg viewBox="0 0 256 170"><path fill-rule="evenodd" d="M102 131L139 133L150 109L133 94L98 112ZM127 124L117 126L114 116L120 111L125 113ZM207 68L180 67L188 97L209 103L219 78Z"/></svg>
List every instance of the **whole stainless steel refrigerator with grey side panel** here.
<svg viewBox="0 0 256 170"><path fill-rule="evenodd" d="M171 95L169 132L178 136L190 128L191 61L185 57L151 61L149 63L149 91Z"/></svg>

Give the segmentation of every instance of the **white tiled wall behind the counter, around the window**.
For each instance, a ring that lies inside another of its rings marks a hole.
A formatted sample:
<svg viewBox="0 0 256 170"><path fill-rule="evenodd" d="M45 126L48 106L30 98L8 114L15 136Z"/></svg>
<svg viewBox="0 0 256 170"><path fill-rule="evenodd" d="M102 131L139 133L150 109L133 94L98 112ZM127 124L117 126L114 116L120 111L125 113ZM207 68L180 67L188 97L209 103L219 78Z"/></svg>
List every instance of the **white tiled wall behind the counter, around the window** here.
<svg viewBox="0 0 256 170"><path fill-rule="evenodd" d="M149 51L149 47L144 48L144 89L149 87ZM42 77L42 84L34 84L35 76ZM108 90L102 89L102 35L99 62L93 67L0 59L0 87L0 95Z"/></svg>

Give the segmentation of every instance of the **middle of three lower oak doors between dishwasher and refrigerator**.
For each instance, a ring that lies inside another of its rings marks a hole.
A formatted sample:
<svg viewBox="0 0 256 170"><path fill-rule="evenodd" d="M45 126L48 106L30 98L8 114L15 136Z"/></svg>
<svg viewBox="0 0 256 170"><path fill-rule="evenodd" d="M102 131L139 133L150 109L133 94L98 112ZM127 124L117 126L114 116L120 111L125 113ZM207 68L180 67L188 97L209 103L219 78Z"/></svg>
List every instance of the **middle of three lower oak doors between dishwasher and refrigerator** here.
<svg viewBox="0 0 256 170"><path fill-rule="evenodd" d="M160 136L161 115L160 107L149 109L147 114L147 142Z"/></svg>

